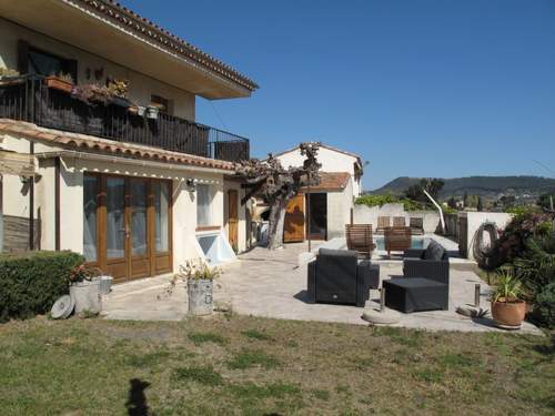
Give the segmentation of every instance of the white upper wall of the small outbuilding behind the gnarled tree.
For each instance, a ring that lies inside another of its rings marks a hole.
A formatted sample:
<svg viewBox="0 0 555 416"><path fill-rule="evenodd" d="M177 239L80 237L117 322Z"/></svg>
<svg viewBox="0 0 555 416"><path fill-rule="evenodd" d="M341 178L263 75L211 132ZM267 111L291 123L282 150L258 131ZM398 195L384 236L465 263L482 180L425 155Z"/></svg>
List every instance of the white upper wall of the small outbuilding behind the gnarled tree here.
<svg viewBox="0 0 555 416"><path fill-rule="evenodd" d="M302 166L305 156L301 155L299 148L276 156L284 168ZM356 197L361 194L361 183L355 179L354 164L357 159L349 154L337 152L327 148L320 148L317 161L322 164L323 172L347 172L351 174L352 192Z"/></svg>

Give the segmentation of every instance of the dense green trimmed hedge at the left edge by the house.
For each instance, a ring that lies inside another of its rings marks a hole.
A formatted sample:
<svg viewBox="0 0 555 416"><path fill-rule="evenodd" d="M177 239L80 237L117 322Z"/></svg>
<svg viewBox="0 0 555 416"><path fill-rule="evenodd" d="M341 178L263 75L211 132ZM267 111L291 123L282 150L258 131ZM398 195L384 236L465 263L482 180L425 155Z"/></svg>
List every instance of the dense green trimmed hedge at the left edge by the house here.
<svg viewBox="0 0 555 416"><path fill-rule="evenodd" d="M72 252L0 256L0 322L50 311L69 292L69 275L84 257Z"/></svg>

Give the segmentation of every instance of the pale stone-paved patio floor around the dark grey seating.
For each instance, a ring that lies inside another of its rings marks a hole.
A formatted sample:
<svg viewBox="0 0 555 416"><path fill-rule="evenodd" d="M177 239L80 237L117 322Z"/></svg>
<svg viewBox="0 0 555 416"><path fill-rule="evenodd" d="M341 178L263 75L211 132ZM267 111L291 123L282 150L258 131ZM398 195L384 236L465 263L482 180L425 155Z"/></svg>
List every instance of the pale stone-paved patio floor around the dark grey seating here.
<svg viewBox="0 0 555 416"><path fill-rule="evenodd" d="M283 319L322 321L367 325L361 318L363 308L344 305L306 303L306 266L299 266L299 254L306 244L289 244L284 250L269 252L256 247L239 256L239 261L224 267L224 275L215 282L214 300L230 303L233 312L243 315ZM402 275L402 262L376 261L381 264L381 278ZM179 284L167 296L170 276L160 276L115 285L104 298L104 314L115 319L178 321L186 315L186 294ZM461 305L474 302L474 285L482 284L482 307L490 308L488 287L472 271L451 270L450 310L402 314L398 326L431 331L501 331L490 318L473 321L455 312ZM377 307L379 292L371 292L366 307ZM542 334L529 323L521 333Z"/></svg>

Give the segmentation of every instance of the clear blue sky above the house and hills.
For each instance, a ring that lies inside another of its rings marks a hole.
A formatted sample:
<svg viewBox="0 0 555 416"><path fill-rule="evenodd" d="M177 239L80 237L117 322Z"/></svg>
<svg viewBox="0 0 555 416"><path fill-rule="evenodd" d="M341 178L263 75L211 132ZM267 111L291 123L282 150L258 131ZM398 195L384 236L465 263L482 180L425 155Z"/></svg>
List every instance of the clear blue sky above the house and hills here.
<svg viewBox="0 0 555 416"><path fill-rule="evenodd" d="M555 0L123 3L261 85L196 110L254 156L320 140L365 189L555 170Z"/></svg>

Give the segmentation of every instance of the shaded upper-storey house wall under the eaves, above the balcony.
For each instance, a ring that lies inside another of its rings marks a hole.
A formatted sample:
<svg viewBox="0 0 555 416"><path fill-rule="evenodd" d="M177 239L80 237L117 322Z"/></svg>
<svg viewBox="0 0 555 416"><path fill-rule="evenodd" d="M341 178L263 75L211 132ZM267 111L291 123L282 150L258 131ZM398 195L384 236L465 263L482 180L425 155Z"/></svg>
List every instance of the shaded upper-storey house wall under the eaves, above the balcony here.
<svg viewBox="0 0 555 416"><path fill-rule="evenodd" d="M129 99L141 105L148 105L151 95L161 95L173 103L173 115L194 121L195 97L194 94L176 89L153 78L143 75L128 68L118 65L98 55L88 53L68 43L59 42L56 39L31 31L21 26L14 24L0 18L0 68L18 68L18 40L22 39L31 47L44 50L52 54L74 59L78 61L78 82L104 83L107 77L129 80ZM101 80L94 75L87 79L87 69L91 73L97 69L103 69L104 74Z"/></svg>

